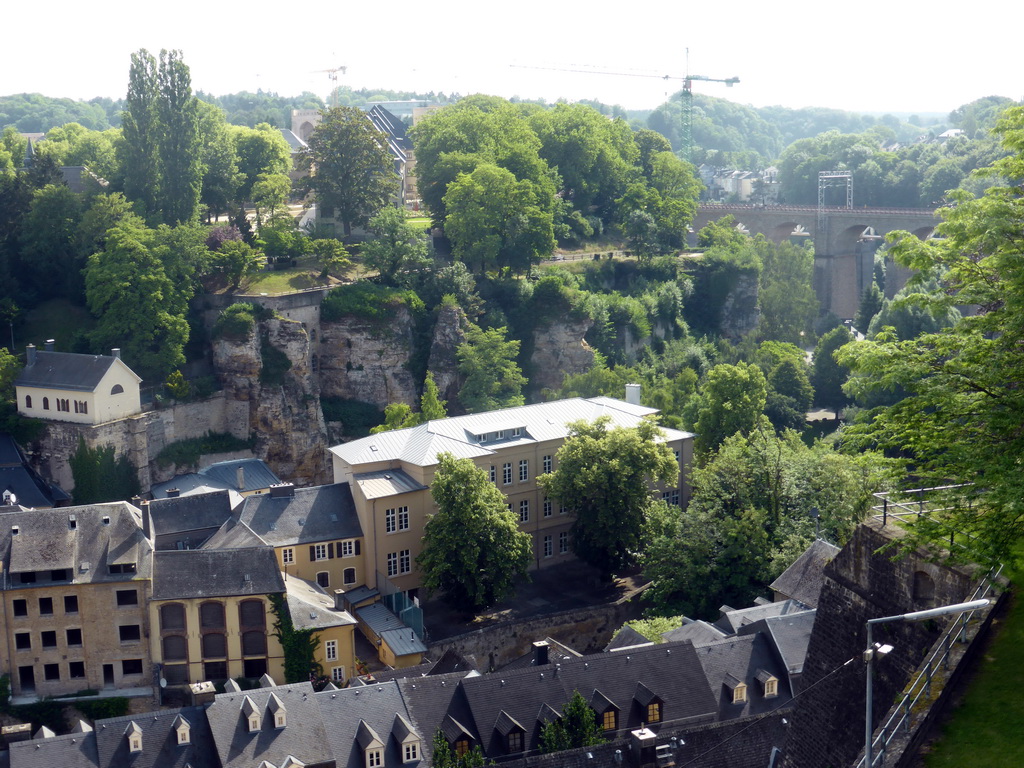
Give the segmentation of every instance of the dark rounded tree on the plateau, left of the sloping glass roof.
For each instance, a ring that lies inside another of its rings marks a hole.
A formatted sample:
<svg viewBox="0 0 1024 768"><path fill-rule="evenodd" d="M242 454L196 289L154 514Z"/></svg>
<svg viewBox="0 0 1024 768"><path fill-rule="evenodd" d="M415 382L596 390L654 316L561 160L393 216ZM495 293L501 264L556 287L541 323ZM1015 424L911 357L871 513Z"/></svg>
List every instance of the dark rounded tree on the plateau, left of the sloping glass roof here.
<svg viewBox="0 0 1024 768"><path fill-rule="evenodd" d="M306 188L317 205L342 222L345 236L366 224L398 190L387 137L355 106L336 106L323 118L303 150Z"/></svg>

